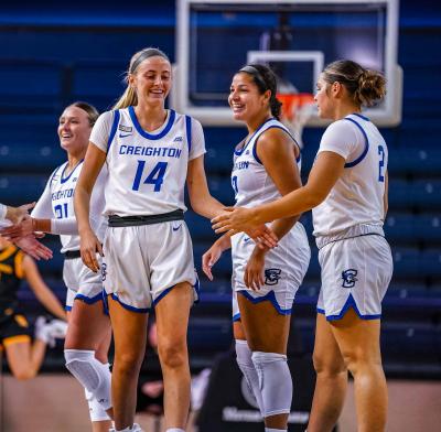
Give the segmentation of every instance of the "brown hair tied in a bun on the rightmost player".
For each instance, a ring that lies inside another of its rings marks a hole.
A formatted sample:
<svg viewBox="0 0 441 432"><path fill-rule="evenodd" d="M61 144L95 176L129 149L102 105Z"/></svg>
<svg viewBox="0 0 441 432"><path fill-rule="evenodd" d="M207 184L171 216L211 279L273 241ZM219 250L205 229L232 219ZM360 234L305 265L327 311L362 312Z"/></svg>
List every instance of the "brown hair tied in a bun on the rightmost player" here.
<svg viewBox="0 0 441 432"><path fill-rule="evenodd" d="M349 60L329 64L322 76L329 84L337 82L344 85L358 106L372 107L386 95L386 80L379 72L365 69Z"/></svg>

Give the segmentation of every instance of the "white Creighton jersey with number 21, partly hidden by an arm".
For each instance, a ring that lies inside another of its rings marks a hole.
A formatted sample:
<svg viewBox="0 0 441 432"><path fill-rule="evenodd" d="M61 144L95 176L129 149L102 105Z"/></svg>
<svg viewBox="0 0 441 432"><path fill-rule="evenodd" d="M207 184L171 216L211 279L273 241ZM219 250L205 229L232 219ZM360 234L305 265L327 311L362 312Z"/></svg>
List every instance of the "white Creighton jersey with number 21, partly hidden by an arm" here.
<svg viewBox="0 0 441 432"><path fill-rule="evenodd" d="M68 175L65 174L67 163L68 162L63 163L52 173L42 196L32 212L33 217L56 219L75 218L74 194L76 182L83 169L83 161L80 161ZM107 168L103 166L90 198L90 223L96 236L101 242L107 226L106 219L103 216L105 206L104 186L106 179ZM62 252L79 250L79 236L77 234L60 235L60 240L63 246Z"/></svg>

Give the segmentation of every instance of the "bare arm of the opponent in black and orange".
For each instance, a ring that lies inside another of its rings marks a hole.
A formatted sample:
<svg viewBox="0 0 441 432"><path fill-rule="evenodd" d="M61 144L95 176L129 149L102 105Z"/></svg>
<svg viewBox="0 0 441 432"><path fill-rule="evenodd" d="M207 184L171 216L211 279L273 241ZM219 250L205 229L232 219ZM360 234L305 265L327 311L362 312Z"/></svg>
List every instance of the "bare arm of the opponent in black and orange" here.
<svg viewBox="0 0 441 432"><path fill-rule="evenodd" d="M23 258L22 267L24 277L39 302L53 315L65 321L66 312L52 290L44 283L34 260L31 257L25 256Z"/></svg>

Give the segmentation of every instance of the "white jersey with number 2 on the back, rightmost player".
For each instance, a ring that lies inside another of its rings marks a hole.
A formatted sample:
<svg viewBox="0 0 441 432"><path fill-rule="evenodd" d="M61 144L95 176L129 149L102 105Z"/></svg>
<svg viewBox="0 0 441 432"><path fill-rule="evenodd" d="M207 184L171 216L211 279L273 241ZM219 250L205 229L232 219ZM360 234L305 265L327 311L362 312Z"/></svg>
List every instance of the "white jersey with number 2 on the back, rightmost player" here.
<svg viewBox="0 0 441 432"><path fill-rule="evenodd" d="M353 114L330 125L319 152L345 160L343 175L313 208L314 236L333 236L356 225L383 226L387 145L368 118Z"/></svg>

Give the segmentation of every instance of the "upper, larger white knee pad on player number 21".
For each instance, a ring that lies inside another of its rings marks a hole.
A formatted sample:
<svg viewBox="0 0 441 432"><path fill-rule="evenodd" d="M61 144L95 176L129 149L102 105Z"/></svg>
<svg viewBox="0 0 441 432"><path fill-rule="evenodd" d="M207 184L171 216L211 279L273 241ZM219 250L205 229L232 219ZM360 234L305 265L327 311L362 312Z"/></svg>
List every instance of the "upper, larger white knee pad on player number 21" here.
<svg viewBox="0 0 441 432"><path fill-rule="evenodd" d="M94 350L65 349L64 358L67 370L94 395L98 403L108 410L111 408L110 381L108 365L103 365L95 358Z"/></svg>

